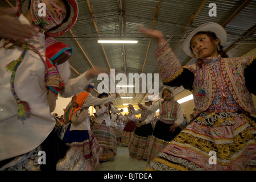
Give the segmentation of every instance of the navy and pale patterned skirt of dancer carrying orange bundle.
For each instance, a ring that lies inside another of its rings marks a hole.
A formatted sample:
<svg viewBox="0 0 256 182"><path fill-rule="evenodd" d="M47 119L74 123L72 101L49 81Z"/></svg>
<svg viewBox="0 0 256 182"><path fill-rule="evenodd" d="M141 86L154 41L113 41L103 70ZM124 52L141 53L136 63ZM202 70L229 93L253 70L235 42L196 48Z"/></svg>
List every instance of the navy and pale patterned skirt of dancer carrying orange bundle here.
<svg viewBox="0 0 256 182"><path fill-rule="evenodd" d="M99 158L102 152L100 144L90 130L72 130L71 125L63 137L69 146L66 156L61 159L56 168L58 171L96 171L100 166Z"/></svg>

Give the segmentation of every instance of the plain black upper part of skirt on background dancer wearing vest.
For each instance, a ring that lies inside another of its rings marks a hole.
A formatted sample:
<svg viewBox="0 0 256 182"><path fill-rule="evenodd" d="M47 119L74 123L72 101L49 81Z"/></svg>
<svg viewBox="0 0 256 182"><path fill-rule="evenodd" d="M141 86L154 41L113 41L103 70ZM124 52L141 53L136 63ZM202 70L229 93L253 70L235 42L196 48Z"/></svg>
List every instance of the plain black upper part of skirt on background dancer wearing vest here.
<svg viewBox="0 0 256 182"><path fill-rule="evenodd" d="M170 131L170 127L172 125L174 124L163 123L162 121L159 120L155 124L155 129L153 131L154 137L170 142L181 131L179 126L176 127L174 131Z"/></svg>

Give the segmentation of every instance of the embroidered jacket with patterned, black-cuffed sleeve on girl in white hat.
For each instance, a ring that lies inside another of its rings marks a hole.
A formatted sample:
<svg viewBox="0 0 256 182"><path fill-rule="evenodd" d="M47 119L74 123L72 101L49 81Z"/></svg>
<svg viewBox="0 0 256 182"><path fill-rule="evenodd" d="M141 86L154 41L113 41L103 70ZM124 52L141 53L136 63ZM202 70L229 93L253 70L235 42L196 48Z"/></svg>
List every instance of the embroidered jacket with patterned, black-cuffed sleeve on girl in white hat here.
<svg viewBox="0 0 256 182"><path fill-rule="evenodd" d="M202 68L195 64L181 67L167 42L156 49L155 55L163 83L183 85L185 89L191 90L199 113L212 109L212 106L214 111L237 111L241 107L248 113L256 113L250 94L255 94L255 86L250 87L250 92L248 90L252 79L248 77L253 75L253 69L247 71L249 81L245 76L245 69L249 65L255 67L255 57L207 57L203 60Z"/></svg>

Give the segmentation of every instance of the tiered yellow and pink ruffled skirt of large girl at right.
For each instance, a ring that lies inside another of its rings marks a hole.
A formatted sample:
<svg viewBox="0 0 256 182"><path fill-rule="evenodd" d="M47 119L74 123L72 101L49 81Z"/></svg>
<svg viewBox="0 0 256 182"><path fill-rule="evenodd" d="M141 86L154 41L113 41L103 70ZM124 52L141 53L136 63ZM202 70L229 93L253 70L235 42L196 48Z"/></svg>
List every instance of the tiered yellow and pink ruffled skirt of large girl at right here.
<svg viewBox="0 0 256 182"><path fill-rule="evenodd" d="M256 170L256 119L202 113L148 164L153 170Z"/></svg>

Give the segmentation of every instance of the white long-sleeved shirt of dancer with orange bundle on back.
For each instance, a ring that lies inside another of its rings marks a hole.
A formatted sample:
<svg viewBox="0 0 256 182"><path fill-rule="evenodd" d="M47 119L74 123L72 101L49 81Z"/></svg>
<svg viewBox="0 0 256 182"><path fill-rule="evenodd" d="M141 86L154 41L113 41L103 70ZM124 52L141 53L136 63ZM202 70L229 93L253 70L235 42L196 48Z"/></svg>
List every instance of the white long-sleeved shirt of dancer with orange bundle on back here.
<svg viewBox="0 0 256 182"><path fill-rule="evenodd" d="M89 94L86 97L85 102L82 105L82 107L83 108L86 107L86 110L87 110L86 113L88 113L88 108L90 106L105 104L105 103L113 101L114 99L115 99L115 95L105 97L105 98L97 98L97 97L93 97L91 94ZM77 117L79 117L79 113L80 113L80 111L77 111ZM70 131L72 131L72 130L90 130L90 119L89 119L88 115L86 115L85 120L83 122L81 122L79 125L73 125L71 123Z"/></svg>

